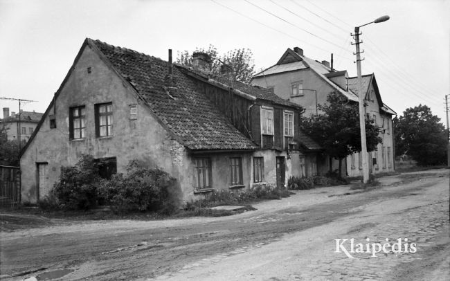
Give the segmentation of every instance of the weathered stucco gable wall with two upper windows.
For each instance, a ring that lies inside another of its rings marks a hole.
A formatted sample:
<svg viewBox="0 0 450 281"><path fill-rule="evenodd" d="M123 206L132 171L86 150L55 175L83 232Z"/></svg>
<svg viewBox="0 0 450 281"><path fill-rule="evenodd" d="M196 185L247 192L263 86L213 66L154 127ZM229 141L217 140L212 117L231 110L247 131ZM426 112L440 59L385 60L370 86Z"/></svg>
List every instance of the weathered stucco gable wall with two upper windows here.
<svg viewBox="0 0 450 281"><path fill-rule="evenodd" d="M91 67L90 74L87 67ZM113 136L96 138L94 105L102 102L112 102L114 132ZM81 154L91 154L94 158L115 156L118 172L125 172L130 160L142 158L174 176L182 174L179 170L186 152L157 123L150 110L138 105L138 119L129 120L129 105L137 103L118 75L89 46L84 48L56 99L57 127L50 129L47 114L21 157L22 200L42 199L58 180L61 166L75 165ZM82 105L85 107L86 138L70 140L69 107ZM49 114L53 114L53 110L51 108ZM48 163L42 190L37 190L37 163Z"/></svg>

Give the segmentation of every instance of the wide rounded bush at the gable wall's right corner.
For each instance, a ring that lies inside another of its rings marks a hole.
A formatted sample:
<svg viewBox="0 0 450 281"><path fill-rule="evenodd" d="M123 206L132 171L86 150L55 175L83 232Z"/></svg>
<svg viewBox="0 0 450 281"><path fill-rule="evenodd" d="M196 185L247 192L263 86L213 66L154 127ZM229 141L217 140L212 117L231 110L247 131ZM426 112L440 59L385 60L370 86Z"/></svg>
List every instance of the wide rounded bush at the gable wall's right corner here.
<svg viewBox="0 0 450 281"><path fill-rule="evenodd" d="M172 212L177 207L170 194L176 179L159 168L145 167L130 161L127 174L114 174L101 181L98 194L118 212L159 210Z"/></svg>

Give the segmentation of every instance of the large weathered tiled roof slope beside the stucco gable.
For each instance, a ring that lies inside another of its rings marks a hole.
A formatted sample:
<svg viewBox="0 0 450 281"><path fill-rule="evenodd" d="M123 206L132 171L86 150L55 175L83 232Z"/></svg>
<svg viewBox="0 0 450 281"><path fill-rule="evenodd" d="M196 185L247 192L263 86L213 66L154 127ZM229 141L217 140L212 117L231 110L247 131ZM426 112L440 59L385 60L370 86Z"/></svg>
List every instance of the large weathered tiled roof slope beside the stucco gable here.
<svg viewBox="0 0 450 281"><path fill-rule="evenodd" d="M127 48L87 39L120 75L132 84L150 109L183 145L190 149L256 149L203 93L194 78L172 68L177 91L170 91L168 62ZM169 93L170 91L170 93Z"/></svg>

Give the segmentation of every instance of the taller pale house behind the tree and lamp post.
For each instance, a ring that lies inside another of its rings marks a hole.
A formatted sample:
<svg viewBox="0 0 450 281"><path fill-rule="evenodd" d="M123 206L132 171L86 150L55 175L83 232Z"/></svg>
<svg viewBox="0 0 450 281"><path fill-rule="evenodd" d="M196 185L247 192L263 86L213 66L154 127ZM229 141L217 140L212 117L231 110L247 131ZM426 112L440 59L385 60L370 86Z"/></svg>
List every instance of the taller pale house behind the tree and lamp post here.
<svg viewBox="0 0 450 281"><path fill-rule="evenodd" d="M273 89L280 98L285 98L305 108L305 116L321 114L317 105L325 105L332 92L341 93L349 102L358 101L357 78L350 78L347 71L336 71L327 61L318 62L306 57L301 48L288 48L274 65L253 76L252 84ZM381 101L375 75L363 76L366 118L375 119L381 127L383 143L370 152L370 172L394 170L392 116L395 112ZM362 175L361 155L348 156L343 171L348 176ZM319 170L338 169L339 161L329 159ZM345 170L344 170L345 169Z"/></svg>

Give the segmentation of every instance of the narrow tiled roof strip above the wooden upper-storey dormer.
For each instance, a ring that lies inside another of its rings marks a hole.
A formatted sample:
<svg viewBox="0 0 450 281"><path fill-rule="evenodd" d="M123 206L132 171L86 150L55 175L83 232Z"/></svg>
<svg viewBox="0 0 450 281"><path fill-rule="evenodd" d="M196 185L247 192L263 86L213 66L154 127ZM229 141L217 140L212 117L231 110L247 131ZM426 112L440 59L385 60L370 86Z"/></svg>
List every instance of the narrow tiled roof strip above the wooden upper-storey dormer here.
<svg viewBox="0 0 450 281"><path fill-rule="evenodd" d="M280 98L275 93L273 93L272 90L264 88L264 87L258 87L253 86L251 84L245 84L239 81L229 81L228 79L220 76L215 76L213 78L214 80L217 80L218 82L222 84L226 84L233 89L237 89L239 91L242 91L244 93L247 93L251 96L254 96L255 98L258 98L260 100L268 100L270 102L277 103L279 105L287 105L289 107L296 107L296 108L302 108L300 105L297 105L294 102L289 102L289 100L285 100L284 98Z"/></svg>

